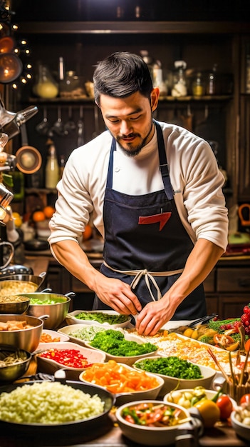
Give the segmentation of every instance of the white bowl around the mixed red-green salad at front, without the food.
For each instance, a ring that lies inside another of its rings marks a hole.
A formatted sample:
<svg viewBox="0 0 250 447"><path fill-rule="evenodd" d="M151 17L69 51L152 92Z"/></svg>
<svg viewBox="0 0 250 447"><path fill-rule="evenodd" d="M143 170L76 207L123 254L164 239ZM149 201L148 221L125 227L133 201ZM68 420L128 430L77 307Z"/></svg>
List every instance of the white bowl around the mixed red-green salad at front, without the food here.
<svg viewBox="0 0 250 447"><path fill-rule="evenodd" d="M162 428L162 427L140 426L135 423L125 421L125 419L122 416L124 408L135 406L139 403L147 403L147 402L152 402L155 403L156 405L163 403L162 401L155 401L155 400L134 401L128 404L125 403L125 405L120 406L115 412L115 416L118 421L118 426L120 427L123 434L127 436L127 438L129 438L131 441L134 441L135 443L138 444L142 444L143 446L169 446L170 444L175 445L175 438L178 435L179 428L180 429L188 428L189 430L192 429L192 426L189 422L179 423L179 425L177 426ZM182 408L179 405L175 405L175 403L169 403L168 405L171 408L178 408L181 411L181 414L183 414L184 418L190 417L189 412L185 408ZM184 440L182 442L184 442Z"/></svg>

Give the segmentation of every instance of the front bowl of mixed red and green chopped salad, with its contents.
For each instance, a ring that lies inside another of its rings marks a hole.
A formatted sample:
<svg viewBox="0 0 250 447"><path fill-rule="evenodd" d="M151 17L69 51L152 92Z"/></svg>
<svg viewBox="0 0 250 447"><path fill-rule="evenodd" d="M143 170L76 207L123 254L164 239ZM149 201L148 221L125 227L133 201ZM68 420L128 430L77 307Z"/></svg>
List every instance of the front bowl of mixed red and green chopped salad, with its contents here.
<svg viewBox="0 0 250 447"><path fill-rule="evenodd" d="M202 423L175 403L142 400L125 403L115 412L118 426L131 441L142 446L175 445L178 435L202 434Z"/></svg>

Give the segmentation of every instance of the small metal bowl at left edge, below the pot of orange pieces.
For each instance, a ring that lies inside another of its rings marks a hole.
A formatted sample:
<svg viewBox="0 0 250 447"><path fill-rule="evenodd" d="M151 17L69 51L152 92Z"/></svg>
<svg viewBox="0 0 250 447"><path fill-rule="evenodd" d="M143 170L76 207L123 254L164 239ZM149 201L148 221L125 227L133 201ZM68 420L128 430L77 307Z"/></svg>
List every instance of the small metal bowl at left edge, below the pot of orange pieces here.
<svg viewBox="0 0 250 447"><path fill-rule="evenodd" d="M7 366L0 366L0 381L14 382L21 376L24 376L24 373L28 370L32 358L30 352L15 348L14 346L0 346L0 360L4 360L4 358L13 354L16 354L22 361Z"/></svg>

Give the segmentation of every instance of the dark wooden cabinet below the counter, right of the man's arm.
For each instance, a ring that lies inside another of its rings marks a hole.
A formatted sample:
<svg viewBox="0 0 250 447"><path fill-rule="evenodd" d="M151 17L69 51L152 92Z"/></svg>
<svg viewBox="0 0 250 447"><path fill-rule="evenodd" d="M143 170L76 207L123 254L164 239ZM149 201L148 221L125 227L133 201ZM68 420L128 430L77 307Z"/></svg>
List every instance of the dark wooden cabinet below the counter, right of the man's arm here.
<svg viewBox="0 0 250 447"><path fill-rule="evenodd" d="M250 258L223 259L204 281L208 313L241 316L250 301Z"/></svg>

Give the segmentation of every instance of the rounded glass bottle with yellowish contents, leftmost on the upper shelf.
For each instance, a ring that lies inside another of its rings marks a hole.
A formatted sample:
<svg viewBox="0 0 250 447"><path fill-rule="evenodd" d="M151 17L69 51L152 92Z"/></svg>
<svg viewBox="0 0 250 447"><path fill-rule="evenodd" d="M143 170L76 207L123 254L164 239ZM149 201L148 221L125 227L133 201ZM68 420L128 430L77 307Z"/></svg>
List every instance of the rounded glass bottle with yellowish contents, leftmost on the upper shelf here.
<svg viewBox="0 0 250 447"><path fill-rule="evenodd" d="M58 84L46 65L38 66L38 76L36 84L33 86L33 93L44 99L52 99L58 96Z"/></svg>

